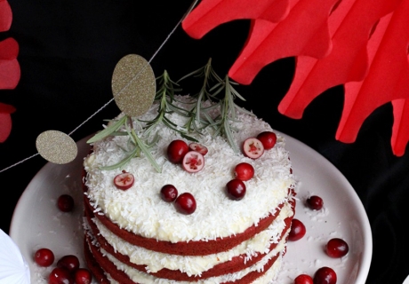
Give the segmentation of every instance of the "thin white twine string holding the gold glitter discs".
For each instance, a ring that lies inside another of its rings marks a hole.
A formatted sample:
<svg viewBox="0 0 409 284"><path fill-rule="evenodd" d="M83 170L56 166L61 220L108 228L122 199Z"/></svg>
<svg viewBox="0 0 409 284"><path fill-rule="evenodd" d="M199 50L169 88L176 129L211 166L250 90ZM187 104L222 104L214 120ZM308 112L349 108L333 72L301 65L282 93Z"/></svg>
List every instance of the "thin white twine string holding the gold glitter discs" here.
<svg viewBox="0 0 409 284"><path fill-rule="evenodd" d="M180 20L178 21L178 23L176 24L176 26L174 28L172 28L172 31L168 34L168 36L166 36L166 38L164 39L164 42L157 48L157 50L155 51L155 53L152 55L152 57L148 60L148 64L150 64L150 62L152 62L153 59L155 59L156 54L164 47L164 44L167 43L169 41L169 39L171 38L172 34L174 33L174 31L176 30L176 28L178 28L180 26L180 23L182 22L182 20L184 20L186 18L186 16L188 16L188 13L191 12L193 10L193 7L195 7L196 3L198 0L194 0L192 4L190 4L190 6L188 7L188 11L185 12L185 14L180 18ZM118 92L118 94L122 93L136 78L138 78L138 76L140 75L140 73L144 70L144 68L142 68L136 75L134 75L132 77L132 79L126 83L124 85L124 87ZM68 136L71 136L76 130L78 130L79 128L81 128L86 122L88 122L90 119L92 119L93 116L95 116L96 114L100 113L100 111L102 109L104 109L105 107L107 107L112 101L114 100L114 98L110 99L108 101L108 103L106 103L105 105L101 106L100 109L98 109L95 113L93 113L91 116L89 116L86 120L84 120L84 122L82 122L81 124L79 124L76 129L72 130L71 132L69 132ZM38 153L33 154L23 160L21 160L20 162L16 162L14 164L12 164L11 166L4 168L3 170L0 170L0 173L4 172L5 170L10 170L12 168L14 168L15 166L19 165L20 163L26 162L31 158L34 158L36 155L38 155Z"/></svg>

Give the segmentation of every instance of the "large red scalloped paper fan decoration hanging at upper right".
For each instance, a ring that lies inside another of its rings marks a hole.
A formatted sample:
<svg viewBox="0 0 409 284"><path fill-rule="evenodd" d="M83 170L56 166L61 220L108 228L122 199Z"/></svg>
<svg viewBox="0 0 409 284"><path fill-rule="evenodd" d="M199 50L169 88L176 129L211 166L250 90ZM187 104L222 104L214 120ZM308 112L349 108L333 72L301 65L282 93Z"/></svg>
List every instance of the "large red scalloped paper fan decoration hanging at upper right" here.
<svg viewBox="0 0 409 284"><path fill-rule="evenodd" d="M325 90L344 84L345 104L335 138L352 143L377 107L394 109L391 146L401 156L409 141L409 0L289 0L288 12L269 19L258 4L245 0L203 0L182 22L200 38L229 20L250 19L245 46L229 70L238 83L250 84L262 67L296 57L293 83L278 111L301 118ZM281 11L285 1L262 1ZM251 10L251 11L249 11ZM261 17L262 15L262 17ZM210 17L210 18L209 18Z"/></svg>

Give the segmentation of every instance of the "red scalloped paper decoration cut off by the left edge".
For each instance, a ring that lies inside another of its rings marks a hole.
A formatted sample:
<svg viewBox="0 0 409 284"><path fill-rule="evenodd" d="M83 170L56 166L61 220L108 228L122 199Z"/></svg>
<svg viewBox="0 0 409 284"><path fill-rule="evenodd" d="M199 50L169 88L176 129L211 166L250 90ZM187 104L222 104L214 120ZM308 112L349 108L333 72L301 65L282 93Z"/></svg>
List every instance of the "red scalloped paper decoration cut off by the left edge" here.
<svg viewBox="0 0 409 284"><path fill-rule="evenodd" d="M0 32L12 26L12 9L5 0L0 0ZM0 90L14 89L20 81L20 64L17 61L19 44L13 38L0 42ZM11 115L14 106L0 103L0 143L4 142L12 131Z"/></svg>

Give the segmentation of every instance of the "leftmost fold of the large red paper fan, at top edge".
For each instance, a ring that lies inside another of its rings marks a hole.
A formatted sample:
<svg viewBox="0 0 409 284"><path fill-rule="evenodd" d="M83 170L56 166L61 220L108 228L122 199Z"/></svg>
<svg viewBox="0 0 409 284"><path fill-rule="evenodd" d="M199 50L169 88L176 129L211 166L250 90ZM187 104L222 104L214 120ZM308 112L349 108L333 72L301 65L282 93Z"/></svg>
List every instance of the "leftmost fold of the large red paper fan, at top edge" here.
<svg viewBox="0 0 409 284"><path fill-rule="evenodd" d="M207 0L197 5L182 21L182 28L196 39L202 38L213 28L241 19L263 19L277 22L289 11L289 0Z"/></svg>

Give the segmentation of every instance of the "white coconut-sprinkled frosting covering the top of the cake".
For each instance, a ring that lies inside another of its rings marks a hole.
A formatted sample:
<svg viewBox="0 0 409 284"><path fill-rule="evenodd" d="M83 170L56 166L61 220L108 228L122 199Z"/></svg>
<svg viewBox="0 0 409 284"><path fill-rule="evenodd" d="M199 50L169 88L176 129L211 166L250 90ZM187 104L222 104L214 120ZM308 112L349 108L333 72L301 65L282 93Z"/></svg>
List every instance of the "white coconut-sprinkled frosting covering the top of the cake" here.
<svg viewBox="0 0 409 284"><path fill-rule="evenodd" d="M179 99L182 98L186 97ZM157 114L156 107L152 106L140 120L153 119ZM178 125L183 125L187 120L175 113L168 117ZM237 113L237 120L240 122L235 122L234 127L239 131L233 133L233 137L239 147L245 138L272 130L267 122L253 115ZM142 138L140 123L134 122L133 127ZM172 140L180 139L179 133L163 123L153 133L157 133L160 139L150 151L162 172L158 173L144 154L133 158L124 170L134 175L135 184L126 191L116 189L113 184L114 177L122 169L100 170L100 167L124 159L127 136L95 142L94 154L84 160L88 186L86 194L92 206L125 230L161 241L213 240L242 233L248 227L257 225L262 217L274 213L277 206L289 198L288 188L295 181L290 174L291 162L285 150L285 138L279 135L274 148L265 151L259 159L252 160L244 154L234 153L225 138L213 137L210 128L203 130L203 135L191 134L209 150L205 155L204 169L192 174L183 170L180 164L167 161L166 148ZM232 201L225 193L225 186L234 178L233 170L239 162L251 163L255 173L252 179L245 181L245 198ZM162 201L159 192L165 184L174 185L179 193L192 193L196 199L196 211L183 215L176 211L172 203Z"/></svg>

